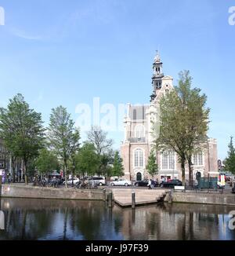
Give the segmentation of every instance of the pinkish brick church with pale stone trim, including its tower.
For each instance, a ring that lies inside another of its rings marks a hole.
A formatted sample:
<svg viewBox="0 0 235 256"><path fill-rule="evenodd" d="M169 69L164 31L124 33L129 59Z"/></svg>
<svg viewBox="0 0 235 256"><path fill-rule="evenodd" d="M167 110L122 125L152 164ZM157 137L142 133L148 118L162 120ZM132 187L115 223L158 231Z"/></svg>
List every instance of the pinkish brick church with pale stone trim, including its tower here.
<svg viewBox="0 0 235 256"><path fill-rule="evenodd" d="M162 62L157 53L153 64L153 94L150 104L128 104L125 116L125 139L121 144L121 158L125 167L125 178L128 180L143 180L150 178L146 164L152 145L152 121L159 112L159 100L164 93L172 90L173 79L164 76ZM181 167L175 152L157 152L158 174L154 178L178 178L182 180ZM217 141L208 138L207 144L201 151L193 155L193 179L196 173L201 172L201 177L218 177ZM189 179L189 170L186 164L186 180Z"/></svg>

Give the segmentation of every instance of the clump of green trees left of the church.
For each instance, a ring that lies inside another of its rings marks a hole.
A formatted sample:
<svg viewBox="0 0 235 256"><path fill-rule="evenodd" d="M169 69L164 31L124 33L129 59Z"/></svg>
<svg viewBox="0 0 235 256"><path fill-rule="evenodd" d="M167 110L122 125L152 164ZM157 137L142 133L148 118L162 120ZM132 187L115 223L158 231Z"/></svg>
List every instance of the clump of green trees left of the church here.
<svg viewBox="0 0 235 256"><path fill-rule="evenodd" d="M0 109L0 137L12 159L13 182L16 163L23 163L25 183L28 176L49 174L63 169L67 185L68 174L122 176L123 165L119 152L112 149L113 141L107 133L92 126L87 141L82 145L79 129L66 108L53 108L49 127L45 128L42 115L30 108L21 94Z"/></svg>

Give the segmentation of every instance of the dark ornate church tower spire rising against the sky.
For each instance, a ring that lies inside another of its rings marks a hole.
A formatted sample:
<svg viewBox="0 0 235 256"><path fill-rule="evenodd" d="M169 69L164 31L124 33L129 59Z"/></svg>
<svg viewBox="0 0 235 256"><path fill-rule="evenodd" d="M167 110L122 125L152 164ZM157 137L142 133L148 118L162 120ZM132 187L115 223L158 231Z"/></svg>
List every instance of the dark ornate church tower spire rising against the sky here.
<svg viewBox="0 0 235 256"><path fill-rule="evenodd" d="M162 79L164 78L164 74L162 71L162 62L159 52L157 51L157 55L154 58L153 64L153 77L152 77L152 86L153 86L153 94L150 96L151 101L154 101L157 96L157 90L161 90Z"/></svg>

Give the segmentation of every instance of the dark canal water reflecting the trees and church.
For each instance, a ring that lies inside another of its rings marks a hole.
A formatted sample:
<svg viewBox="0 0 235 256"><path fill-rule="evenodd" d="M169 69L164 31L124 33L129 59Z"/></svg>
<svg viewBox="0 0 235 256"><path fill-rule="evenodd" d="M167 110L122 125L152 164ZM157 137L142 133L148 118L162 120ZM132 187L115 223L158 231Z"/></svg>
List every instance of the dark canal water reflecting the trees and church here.
<svg viewBox="0 0 235 256"><path fill-rule="evenodd" d="M2 199L0 240L235 240L234 208L161 203L132 210L97 201Z"/></svg>

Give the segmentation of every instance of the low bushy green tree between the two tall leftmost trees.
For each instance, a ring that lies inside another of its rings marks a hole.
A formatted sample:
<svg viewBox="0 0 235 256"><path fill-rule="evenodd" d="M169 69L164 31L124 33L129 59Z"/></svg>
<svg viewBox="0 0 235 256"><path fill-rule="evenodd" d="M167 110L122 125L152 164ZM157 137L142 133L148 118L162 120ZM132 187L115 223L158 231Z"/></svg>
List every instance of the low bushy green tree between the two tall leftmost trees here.
<svg viewBox="0 0 235 256"><path fill-rule="evenodd" d="M47 148L42 148L34 164L41 174L48 174L52 170L59 170L60 168L56 155Z"/></svg>

